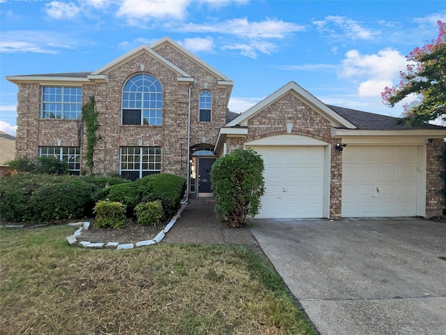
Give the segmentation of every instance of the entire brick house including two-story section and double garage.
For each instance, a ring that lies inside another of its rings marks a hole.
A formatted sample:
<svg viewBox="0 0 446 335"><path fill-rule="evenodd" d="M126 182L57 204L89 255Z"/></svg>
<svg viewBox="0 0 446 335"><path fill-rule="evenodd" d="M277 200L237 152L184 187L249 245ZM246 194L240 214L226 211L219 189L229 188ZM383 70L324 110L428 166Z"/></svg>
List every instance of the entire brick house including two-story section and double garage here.
<svg viewBox="0 0 446 335"><path fill-rule="evenodd" d="M443 212L446 128L324 105L295 82L243 114L229 112L233 82L170 38L92 73L7 79L19 87L17 156L57 156L72 173L86 170L81 107L95 96L95 174L189 176L190 195L206 197L215 159L252 148L266 167L260 218Z"/></svg>

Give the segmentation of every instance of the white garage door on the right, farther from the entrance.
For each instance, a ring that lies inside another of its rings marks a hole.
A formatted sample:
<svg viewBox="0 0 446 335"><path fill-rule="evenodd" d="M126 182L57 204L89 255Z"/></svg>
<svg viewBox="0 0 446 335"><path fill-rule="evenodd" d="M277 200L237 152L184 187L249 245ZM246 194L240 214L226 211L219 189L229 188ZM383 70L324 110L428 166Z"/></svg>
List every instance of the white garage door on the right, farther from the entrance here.
<svg viewBox="0 0 446 335"><path fill-rule="evenodd" d="M415 216L417 147L361 147L342 151L342 216Z"/></svg>

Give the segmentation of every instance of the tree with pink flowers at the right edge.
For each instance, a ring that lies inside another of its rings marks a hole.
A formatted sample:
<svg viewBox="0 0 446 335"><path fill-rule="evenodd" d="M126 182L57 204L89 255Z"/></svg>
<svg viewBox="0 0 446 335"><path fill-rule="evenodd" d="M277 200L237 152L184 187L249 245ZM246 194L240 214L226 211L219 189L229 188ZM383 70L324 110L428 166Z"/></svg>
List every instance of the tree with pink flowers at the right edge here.
<svg viewBox="0 0 446 335"><path fill-rule="evenodd" d="M411 94L412 103L403 105L401 124L417 126L443 117L446 119L446 23L438 21L438 38L415 49L406 57L406 71L395 87L385 87L383 103L394 107Z"/></svg>

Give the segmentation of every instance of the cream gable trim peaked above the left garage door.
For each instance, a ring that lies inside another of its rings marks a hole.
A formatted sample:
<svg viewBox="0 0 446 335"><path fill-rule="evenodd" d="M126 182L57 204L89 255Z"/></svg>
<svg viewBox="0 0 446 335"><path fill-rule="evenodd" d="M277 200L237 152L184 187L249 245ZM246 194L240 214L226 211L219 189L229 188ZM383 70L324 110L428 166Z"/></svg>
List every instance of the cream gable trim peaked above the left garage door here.
<svg viewBox="0 0 446 335"><path fill-rule="evenodd" d="M273 94L263 99L261 102L249 108L249 110L247 110L246 112L240 114L239 117L236 117L236 119L233 119L231 122L226 124L224 128L247 126L247 121L250 118L254 117L254 115L261 112L266 107L268 107L272 103L275 103L275 101L278 101L280 98L282 98L282 96L290 92L291 94L295 94L295 96L298 96L300 101L302 101L309 107L312 107L313 110L321 114L323 117L325 117L325 119L328 119L332 126L339 128L356 128L354 124L342 117L340 114L334 112L331 108L319 101L312 94L309 94L309 92L305 89L302 89L302 87L300 87L295 82L289 82L284 87L278 89Z"/></svg>

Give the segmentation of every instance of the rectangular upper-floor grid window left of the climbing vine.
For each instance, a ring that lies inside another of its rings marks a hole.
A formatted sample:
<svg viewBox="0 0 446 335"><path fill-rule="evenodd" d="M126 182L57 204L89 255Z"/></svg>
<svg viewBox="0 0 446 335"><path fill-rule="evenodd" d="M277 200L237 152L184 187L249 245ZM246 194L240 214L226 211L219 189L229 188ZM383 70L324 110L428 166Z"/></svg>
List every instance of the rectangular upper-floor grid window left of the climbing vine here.
<svg viewBox="0 0 446 335"><path fill-rule="evenodd" d="M43 119L80 119L82 88L42 87L40 102Z"/></svg>

